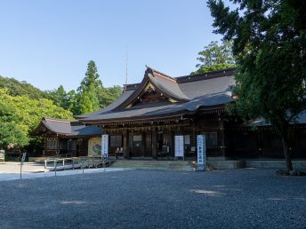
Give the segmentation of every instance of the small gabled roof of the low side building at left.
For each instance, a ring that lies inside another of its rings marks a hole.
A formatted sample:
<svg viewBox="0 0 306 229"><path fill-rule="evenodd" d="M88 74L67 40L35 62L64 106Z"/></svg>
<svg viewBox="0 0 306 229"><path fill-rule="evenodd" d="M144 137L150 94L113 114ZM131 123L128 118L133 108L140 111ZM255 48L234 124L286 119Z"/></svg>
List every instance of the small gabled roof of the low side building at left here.
<svg viewBox="0 0 306 229"><path fill-rule="evenodd" d="M44 117L36 129L32 131L32 135L40 135L40 133L43 132L51 132L53 134L67 137L86 137L101 135L101 128L95 126L85 126L84 123L79 121L68 121Z"/></svg>

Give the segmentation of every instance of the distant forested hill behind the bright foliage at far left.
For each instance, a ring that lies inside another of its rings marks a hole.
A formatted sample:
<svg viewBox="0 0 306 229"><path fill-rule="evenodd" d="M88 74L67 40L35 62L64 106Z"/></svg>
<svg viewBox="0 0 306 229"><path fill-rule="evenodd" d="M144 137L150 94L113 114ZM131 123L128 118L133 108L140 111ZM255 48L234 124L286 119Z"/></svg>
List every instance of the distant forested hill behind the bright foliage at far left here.
<svg viewBox="0 0 306 229"><path fill-rule="evenodd" d="M0 89L7 88L8 94L11 96L27 95L30 99L46 98L44 91L32 86L27 82L19 82L14 78L7 78L0 75Z"/></svg>

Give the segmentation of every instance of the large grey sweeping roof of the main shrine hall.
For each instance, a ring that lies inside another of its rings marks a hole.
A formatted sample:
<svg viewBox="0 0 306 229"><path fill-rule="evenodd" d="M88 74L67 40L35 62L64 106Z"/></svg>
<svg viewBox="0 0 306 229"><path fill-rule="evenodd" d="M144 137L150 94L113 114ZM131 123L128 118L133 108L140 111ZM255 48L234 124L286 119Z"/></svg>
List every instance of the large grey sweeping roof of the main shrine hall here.
<svg viewBox="0 0 306 229"><path fill-rule="evenodd" d="M205 75L187 75L173 78L147 67L141 83L125 85L122 96L113 104L91 114L76 116L81 122L117 122L152 119L173 115L190 114L197 109L224 107L233 101L231 89L235 84L234 68L213 71ZM134 101L152 85L154 89L172 102L141 104Z"/></svg>

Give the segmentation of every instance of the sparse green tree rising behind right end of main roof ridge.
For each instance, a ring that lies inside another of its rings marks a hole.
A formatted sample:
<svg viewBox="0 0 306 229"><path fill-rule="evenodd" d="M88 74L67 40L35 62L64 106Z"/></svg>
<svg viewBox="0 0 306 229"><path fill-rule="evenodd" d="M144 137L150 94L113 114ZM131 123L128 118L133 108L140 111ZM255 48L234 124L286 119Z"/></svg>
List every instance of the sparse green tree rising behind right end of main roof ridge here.
<svg viewBox="0 0 306 229"><path fill-rule="evenodd" d="M204 47L203 51L198 52L200 57L197 60L200 63L196 66L198 68L197 71L192 72L191 75L235 67L235 59L231 47L232 43L228 41L220 45L216 41L209 43Z"/></svg>

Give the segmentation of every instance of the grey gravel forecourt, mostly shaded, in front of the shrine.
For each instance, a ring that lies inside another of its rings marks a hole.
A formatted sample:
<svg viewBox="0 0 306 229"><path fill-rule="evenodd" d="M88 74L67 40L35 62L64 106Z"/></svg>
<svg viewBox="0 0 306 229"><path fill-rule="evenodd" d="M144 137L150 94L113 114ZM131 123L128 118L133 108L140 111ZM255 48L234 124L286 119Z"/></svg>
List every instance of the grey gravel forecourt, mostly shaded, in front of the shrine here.
<svg viewBox="0 0 306 229"><path fill-rule="evenodd" d="M306 228L306 178L125 170L0 182L0 228Z"/></svg>

